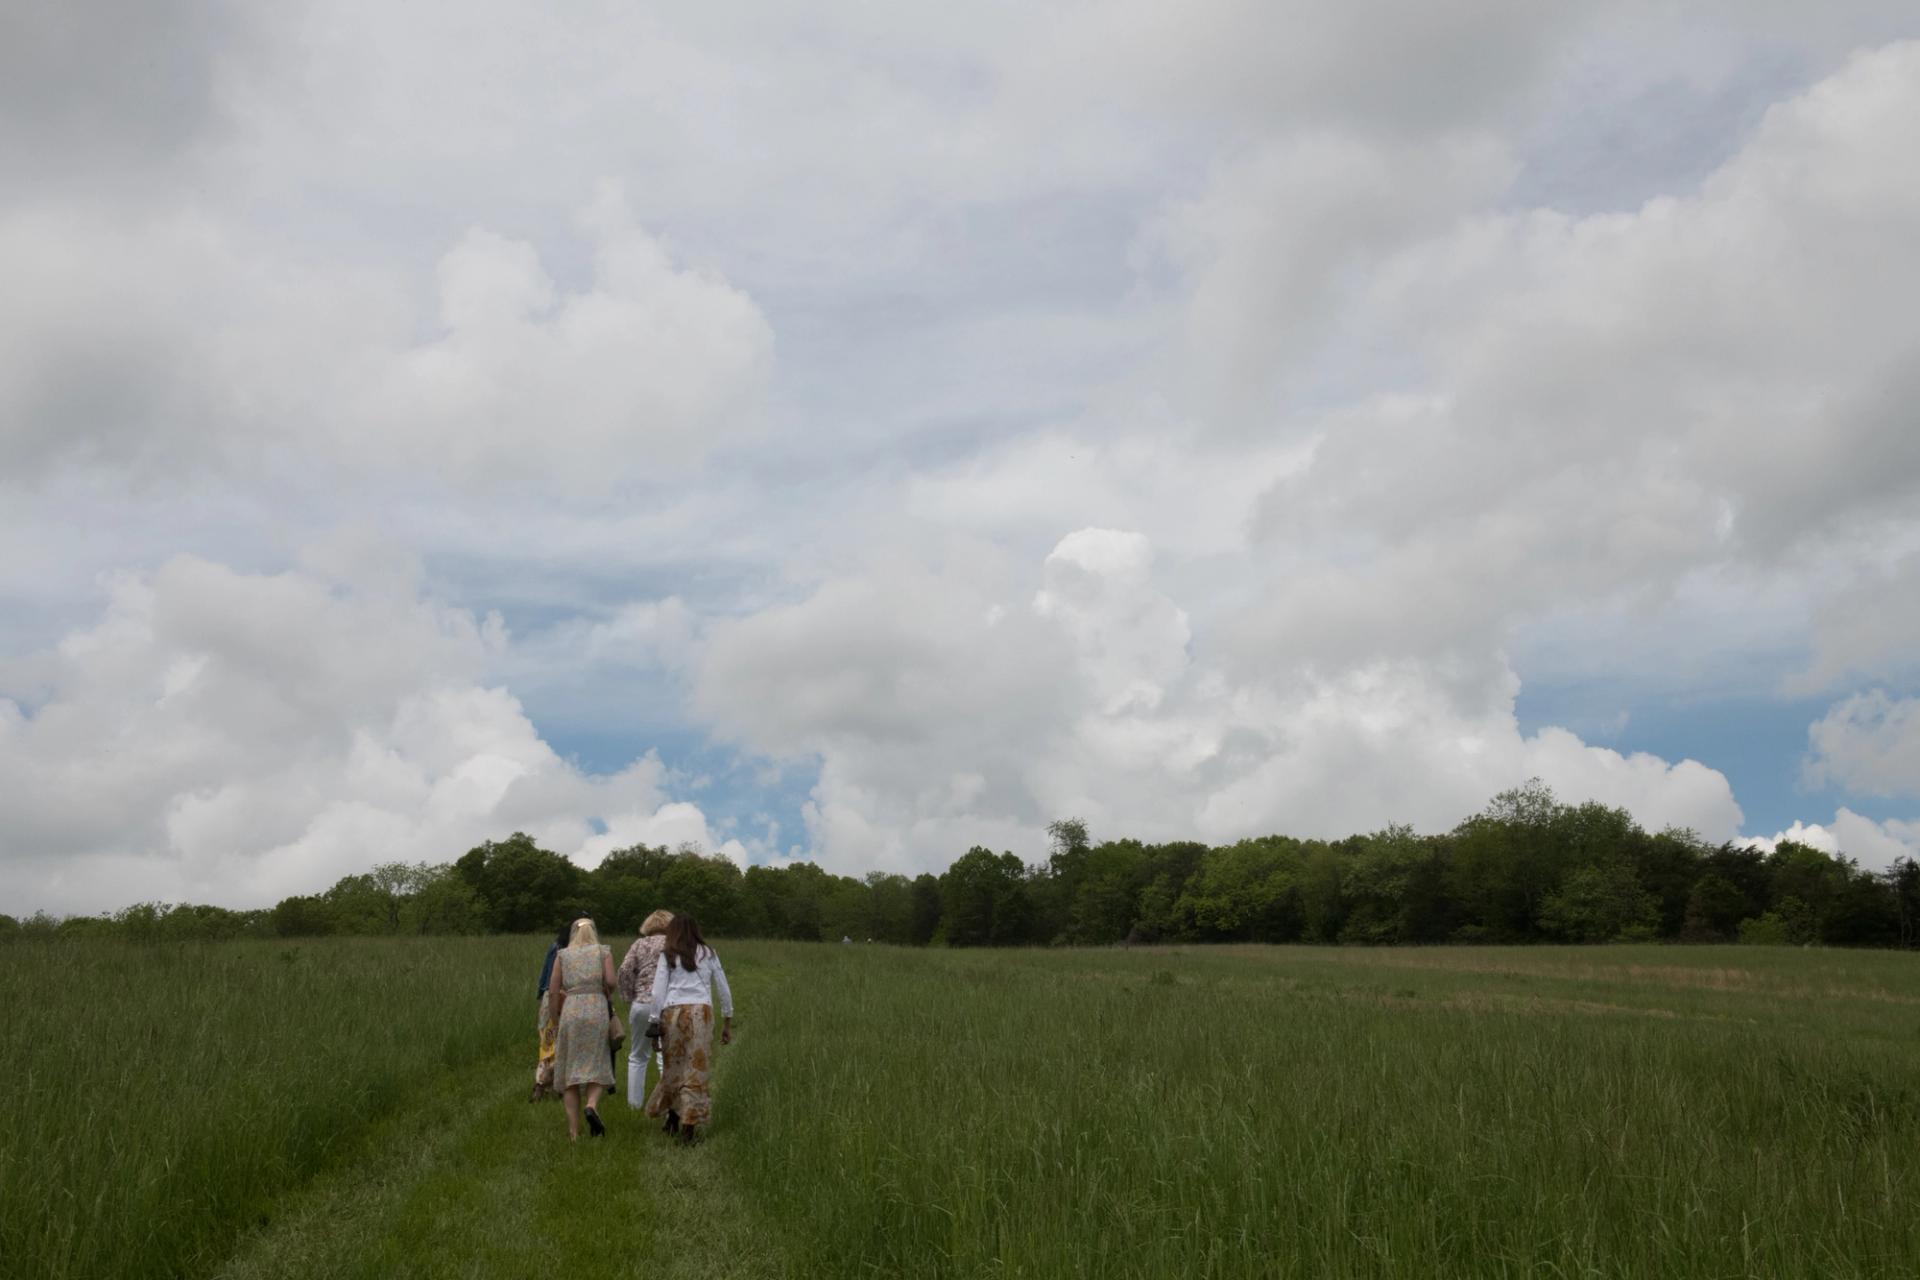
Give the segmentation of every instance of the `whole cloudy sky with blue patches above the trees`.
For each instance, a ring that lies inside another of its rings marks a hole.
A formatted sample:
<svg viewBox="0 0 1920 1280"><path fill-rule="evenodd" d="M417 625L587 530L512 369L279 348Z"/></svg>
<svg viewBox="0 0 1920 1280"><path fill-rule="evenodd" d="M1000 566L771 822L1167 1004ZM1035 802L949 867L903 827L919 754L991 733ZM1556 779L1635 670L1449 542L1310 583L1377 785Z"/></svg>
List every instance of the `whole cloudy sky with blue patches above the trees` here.
<svg viewBox="0 0 1920 1280"><path fill-rule="evenodd" d="M1885 865L1916 119L1910 0L15 0L0 910L1528 775Z"/></svg>

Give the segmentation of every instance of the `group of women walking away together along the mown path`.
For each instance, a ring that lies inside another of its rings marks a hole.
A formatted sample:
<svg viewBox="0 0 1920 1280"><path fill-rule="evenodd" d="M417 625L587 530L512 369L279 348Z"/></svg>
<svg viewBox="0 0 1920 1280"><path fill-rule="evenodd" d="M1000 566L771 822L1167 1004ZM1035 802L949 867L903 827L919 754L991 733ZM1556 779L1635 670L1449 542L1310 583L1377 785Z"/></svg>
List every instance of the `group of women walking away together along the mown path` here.
<svg viewBox="0 0 1920 1280"><path fill-rule="evenodd" d="M620 1027L614 994L628 1006L632 1032ZM732 1044L733 992L720 956L707 946L691 915L649 915L618 971L591 919L568 923L540 969L534 1098L559 1094L566 1100L570 1140L580 1140L582 1119L588 1132L603 1136L599 1103L616 1092L616 1054L626 1040L626 1105L664 1117L666 1132L695 1142L712 1113L714 998L720 1002L720 1044ZM659 1063L660 1079L645 1094L649 1059Z"/></svg>

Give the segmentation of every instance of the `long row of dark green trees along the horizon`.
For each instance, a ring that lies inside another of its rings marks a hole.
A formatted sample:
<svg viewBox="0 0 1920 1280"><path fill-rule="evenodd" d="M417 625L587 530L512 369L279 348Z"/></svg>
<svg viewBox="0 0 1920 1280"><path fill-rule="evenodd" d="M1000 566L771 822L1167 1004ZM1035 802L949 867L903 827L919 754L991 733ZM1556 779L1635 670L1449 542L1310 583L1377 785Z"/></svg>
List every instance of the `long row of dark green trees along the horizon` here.
<svg viewBox="0 0 1920 1280"><path fill-rule="evenodd" d="M1920 865L1868 871L1782 841L1766 852L1644 831L1626 810L1563 804L1538 779L1440 835L1390 825L1344 841L1267 835L1208 846L1048 827L1041 862L973 846L943 873L739 867L699 848L636 844L591 871L515 833L451 864L380 864L273 908L144 902L106 915L0 915L0 938L117 935L603 933L655 908L735 938L904 946L1116 942L1759 942L1920 946Z"/></svg>

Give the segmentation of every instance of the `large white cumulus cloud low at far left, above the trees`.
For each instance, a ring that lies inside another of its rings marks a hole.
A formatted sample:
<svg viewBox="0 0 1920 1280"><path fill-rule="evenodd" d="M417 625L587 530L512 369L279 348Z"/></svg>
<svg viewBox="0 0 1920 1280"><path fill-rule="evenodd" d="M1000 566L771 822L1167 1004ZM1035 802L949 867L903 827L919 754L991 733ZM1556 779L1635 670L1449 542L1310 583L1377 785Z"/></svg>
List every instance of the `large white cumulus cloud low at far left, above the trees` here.
<svg viewBox="0 0 1920 1280"><path fill-rule="evenodd" d="M745 858L657 756L561 760L484 683L505 645L411 583L192 557L113 581L94 626L0 664L0 902L257 906L515 829L584 864L639 841Z"/></svg>

